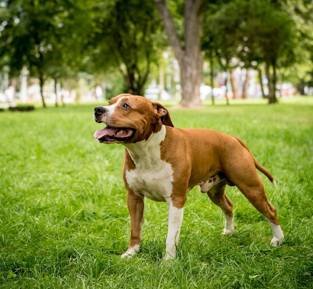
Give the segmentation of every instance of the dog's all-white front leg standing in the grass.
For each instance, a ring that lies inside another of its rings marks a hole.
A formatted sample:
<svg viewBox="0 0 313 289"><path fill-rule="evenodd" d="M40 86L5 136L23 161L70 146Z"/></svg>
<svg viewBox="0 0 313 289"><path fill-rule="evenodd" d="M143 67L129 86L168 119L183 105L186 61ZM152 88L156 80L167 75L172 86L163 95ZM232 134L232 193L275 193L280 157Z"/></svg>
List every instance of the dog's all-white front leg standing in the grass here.
<svg viewBox="0 0 313 289"><path fill-rule="evenodd" d="M166 237L166 255L165 260L176 256L180 227L183 217L183 206L175 207L171 198L166 199L168 204L168 230Z"/></svg>

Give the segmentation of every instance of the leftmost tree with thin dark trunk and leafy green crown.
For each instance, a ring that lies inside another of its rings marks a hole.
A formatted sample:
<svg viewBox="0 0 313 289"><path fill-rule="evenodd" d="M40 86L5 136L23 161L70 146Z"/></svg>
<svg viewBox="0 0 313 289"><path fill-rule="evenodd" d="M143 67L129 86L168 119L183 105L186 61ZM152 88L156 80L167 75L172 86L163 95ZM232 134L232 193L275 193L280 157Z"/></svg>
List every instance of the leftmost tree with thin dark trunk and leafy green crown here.
<svg viewBox="0 0 313 289"><path fill-rule="evenodd" d="M79 23L86 25L85 7L81 1L72 4L65 0L7 0L1 4L0 55L7 56L11 74L19 73L25 65L30 75L39 78L45 107L45 78L57 77L66 65L73 66L73 61L67 61L69 58L79 62L79 54L69 55L74 54L76 47L83 47L81 41L87 29L81 29Z"/></svg>

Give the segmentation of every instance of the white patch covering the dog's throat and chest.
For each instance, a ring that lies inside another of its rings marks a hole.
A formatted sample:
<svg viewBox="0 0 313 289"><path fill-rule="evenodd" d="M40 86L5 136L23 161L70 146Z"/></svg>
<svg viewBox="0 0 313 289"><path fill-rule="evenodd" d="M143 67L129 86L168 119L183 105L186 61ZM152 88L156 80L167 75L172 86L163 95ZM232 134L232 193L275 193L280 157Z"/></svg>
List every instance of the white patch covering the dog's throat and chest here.
<svg viewBox="0 0 313 289"><path fill-rule="evenodd" d="M136 194L156 200L165 201L172 192L173 170L171 165L160 157L160 142L164 139L166 128L145 141L126 144L136 168L126 171L128 185Z"/></svg>

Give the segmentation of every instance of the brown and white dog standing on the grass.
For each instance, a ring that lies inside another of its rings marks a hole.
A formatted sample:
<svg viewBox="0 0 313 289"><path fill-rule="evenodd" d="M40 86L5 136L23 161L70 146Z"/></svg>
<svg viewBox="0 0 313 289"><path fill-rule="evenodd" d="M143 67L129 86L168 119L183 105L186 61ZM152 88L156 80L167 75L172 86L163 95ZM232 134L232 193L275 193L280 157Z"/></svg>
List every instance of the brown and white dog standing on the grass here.
<svg viewBox="0 0 313 289"><path fill-rule="evenodd" d="M235 185L269 222L279 246L283 232L256 169L275 185L236 136L210 129L173 127L168 110L142 96L120 94L107 106L94 108L94 120L106 127L94 133L102 143L125 146L123 180L130 214L130 241L122 257L139 251L144 196L168 205L165 259L176 255L186 193L195 185L218 205L225 216L223 234L233 232L232 202L225 186Z"/></svg>

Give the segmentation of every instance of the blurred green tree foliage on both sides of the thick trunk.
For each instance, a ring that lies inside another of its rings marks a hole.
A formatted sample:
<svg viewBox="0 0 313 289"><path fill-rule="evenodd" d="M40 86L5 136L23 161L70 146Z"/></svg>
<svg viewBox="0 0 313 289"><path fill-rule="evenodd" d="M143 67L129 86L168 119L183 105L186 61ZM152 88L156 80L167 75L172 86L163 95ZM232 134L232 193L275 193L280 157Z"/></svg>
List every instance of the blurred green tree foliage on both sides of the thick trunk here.
<svg viewBox="0 0 313 289"><path fill-rule="evenodd" d="M184 1L166 5L184 47ZM207 1L202 49L224 68L274 62L281 79L303 90L312 81L311 11L311 0ZM123 82L123 91L139 94L168 44L152 0L2 0L0 40L0 66L9 65L11 76L26 65L42 86L48 77L60 81L81 71L102 82L116 70L122 78L111 86Z"/></svg>

